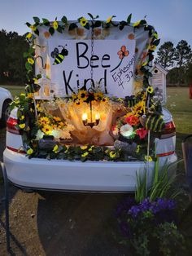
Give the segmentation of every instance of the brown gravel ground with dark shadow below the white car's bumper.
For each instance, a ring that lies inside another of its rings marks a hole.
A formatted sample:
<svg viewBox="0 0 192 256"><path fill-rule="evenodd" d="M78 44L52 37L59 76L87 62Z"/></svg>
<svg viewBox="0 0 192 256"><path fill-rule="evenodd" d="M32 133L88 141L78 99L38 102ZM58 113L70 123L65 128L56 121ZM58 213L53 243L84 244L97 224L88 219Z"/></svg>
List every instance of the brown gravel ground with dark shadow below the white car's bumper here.
<svg viewBox="0 0 192 256"><path fill-rule="evenodd" d="M0 160L5 130L0 131ZM3 185L0 183L0 197ZM129 255L113 238L122 194L24 193L10 187L11 255ZM0 201L0 255L8 255Z"/></svg>

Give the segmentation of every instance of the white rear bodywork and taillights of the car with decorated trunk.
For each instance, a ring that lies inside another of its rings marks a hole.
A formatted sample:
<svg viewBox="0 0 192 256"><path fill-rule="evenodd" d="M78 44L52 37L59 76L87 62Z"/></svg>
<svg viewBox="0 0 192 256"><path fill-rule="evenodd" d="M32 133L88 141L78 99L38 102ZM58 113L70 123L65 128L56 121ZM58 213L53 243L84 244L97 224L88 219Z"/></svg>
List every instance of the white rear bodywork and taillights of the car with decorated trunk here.
<svg viewBox="0 0 192 256"><path fill-rule="evenodd" d="M17 125L17 109L7 121L7 148L4 163L8 179L20 188L33 190L62 190L81 192L133 192L136 188L136 172L143 171L144 161L67 161L28 159ZM166 127L160 139L156 139L159 165L165 161L177 161L175 153L176 133L172 115L164 108ZM150 162L149 176L154 162ZM150 180L150 179L149 179Z"/></svg>

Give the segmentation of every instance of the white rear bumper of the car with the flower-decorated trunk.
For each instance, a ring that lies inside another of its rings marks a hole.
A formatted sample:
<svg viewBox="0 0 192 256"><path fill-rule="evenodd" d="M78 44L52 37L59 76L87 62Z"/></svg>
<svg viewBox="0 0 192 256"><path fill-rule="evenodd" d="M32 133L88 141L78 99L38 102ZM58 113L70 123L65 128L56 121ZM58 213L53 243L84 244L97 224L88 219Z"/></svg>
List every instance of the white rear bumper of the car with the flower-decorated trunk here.
<svg viewBox="0 0 192 256"><path fill-rule="evenodd" d="M7 177L19 187L81 192L134 192L136 173L143 172L143 161L64 161L28 159L6 149L3 153ZM160 165L177 156L161 157ZM149 163L149 183L154 162Z"/></svg>

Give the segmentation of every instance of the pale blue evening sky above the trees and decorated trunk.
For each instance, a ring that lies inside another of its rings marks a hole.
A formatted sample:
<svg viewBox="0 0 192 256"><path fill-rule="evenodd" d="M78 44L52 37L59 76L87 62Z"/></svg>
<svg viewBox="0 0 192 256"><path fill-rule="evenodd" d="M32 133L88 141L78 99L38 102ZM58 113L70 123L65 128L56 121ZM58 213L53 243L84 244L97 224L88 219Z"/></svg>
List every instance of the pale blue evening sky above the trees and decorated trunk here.
<svg viewBox="0 0 192 256"><path fill-rule="evenodd" d="M126 20L132 13L135 22L146 15L146 21L155 27L161 44L172 41L174 45L186 40L192 46L192 1L191 0L0 0L0 29L24 34L25 23L33 23L33 16L58 20L66 15L68 20L81 16L89 19L87 13L99 15L107 20Z"/></svg>

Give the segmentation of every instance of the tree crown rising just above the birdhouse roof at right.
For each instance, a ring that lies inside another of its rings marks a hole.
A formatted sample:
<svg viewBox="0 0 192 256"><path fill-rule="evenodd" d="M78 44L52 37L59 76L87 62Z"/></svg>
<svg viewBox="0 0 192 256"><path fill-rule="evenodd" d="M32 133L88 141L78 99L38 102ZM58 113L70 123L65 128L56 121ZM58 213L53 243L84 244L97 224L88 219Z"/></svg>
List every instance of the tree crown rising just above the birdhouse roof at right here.
<svg viewBox="0 0 192 256"><path fill-rule="evenodd" d="M163 45L159 47L159 51L157 52L157 59L155 62L161 64L164 68L172 67L174 64L174 55L175 48L172 42L164 42Z"/></svg>

